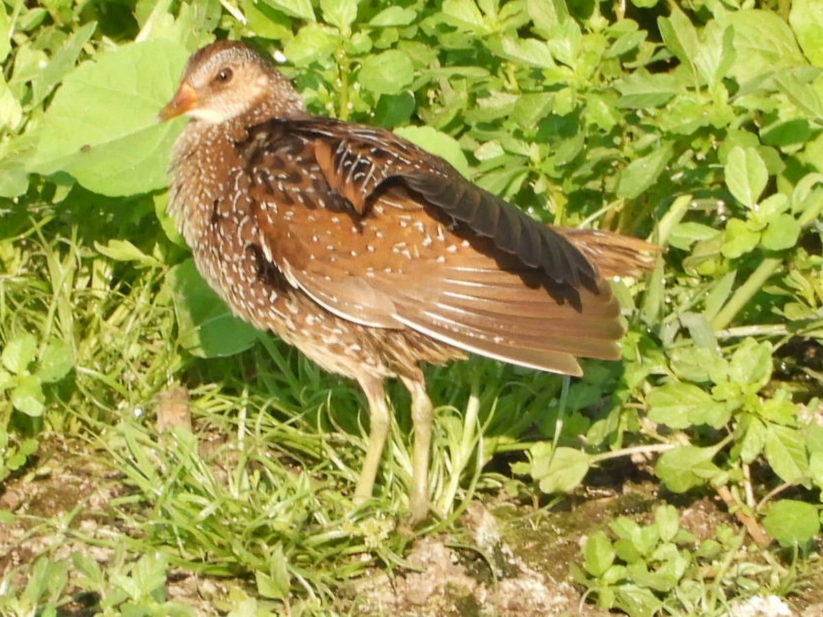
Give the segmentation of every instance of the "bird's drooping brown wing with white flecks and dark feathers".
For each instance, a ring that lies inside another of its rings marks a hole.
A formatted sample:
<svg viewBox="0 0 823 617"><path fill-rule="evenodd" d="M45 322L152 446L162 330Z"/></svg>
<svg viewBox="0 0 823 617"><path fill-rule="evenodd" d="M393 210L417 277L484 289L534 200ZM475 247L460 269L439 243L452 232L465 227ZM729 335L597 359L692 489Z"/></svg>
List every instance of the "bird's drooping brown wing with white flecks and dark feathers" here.
<svg viewBox="0 0 823 617"><path fill-rule="evenodd" d="M559 373L618 357L619 307L586 257L444 161L326 119L239 147L263 253L333 313Z"/></svg>

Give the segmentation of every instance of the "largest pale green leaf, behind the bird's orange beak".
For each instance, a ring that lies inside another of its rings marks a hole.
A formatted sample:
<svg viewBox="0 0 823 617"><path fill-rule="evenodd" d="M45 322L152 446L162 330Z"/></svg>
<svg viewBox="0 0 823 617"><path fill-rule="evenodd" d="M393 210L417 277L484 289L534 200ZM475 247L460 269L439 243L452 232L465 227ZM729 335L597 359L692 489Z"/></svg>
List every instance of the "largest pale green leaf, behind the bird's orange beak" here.
<svg viewBox="0 0 823 617"><path fill-rule="evenodd" d="M176 129L157 123L174 94L187 50L166 39L125 44L66 77L38 128L28 170L65 171L104 195L165 186Z"/></svg>

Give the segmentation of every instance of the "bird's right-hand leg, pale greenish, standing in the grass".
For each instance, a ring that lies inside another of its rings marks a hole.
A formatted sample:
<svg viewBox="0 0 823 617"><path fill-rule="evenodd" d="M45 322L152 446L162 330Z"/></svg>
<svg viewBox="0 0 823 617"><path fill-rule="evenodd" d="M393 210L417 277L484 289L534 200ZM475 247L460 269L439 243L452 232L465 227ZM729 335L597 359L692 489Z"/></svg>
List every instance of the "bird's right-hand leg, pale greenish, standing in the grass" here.
<svg viewBox="0 0 823 617"><path fill-rule="evenodd" d="M423 374L402 377L412 394L414 457L412 460L412 494L409 498L409 522L421 522L429 514L429 452L431 449L432 405L425 393Z"/></svg>

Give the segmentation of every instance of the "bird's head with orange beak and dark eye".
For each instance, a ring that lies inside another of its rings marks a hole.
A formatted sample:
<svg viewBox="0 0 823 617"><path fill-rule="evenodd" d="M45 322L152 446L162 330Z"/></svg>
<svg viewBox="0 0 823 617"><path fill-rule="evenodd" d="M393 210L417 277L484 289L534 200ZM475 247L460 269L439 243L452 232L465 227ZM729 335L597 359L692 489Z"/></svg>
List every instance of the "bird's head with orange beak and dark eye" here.
<svg viewBox="0 0 823 617"><path fill-rule="evenodd" d="M187 115L207 124L289 118L305 111L300 95L272 64L249 46L217 41L188 59L174 98L160 120Z"/></svg>

